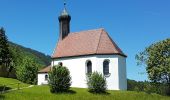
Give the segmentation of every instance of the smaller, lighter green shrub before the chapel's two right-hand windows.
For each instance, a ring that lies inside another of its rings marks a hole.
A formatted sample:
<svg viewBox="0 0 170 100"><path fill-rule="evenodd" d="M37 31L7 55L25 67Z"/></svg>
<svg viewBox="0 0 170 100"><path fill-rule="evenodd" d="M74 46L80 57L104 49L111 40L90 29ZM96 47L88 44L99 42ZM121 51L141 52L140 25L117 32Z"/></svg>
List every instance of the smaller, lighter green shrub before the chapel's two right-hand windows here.
<svg viewBox="0 0 170 100"><path fill-rule="evenodd" d="M105 93L107 89L106 79L99 72L87 75L87 85L90 92Z"/></svg>

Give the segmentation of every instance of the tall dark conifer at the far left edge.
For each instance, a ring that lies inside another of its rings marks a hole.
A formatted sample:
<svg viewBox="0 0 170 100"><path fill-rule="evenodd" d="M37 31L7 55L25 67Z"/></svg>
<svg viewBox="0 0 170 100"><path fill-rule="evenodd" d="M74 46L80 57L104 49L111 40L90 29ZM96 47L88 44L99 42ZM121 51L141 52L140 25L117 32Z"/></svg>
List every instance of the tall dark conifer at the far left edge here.
<svg viewBox="0 0 170 100"><path fill-rule="evenodd" d="M0 66L5 67L7 77L12 70L12 54L9 51L8 39L5 35L5 30L0 28Z"/></svg>

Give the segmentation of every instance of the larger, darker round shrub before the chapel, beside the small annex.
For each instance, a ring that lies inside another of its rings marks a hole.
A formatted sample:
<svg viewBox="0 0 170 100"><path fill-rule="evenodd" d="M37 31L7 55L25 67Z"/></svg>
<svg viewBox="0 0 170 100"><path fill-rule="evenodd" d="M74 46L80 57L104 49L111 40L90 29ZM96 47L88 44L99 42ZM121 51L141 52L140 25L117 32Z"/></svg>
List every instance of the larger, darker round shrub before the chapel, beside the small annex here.
<svg viewBox="0 0 170 100"><path fill-rule="evenodd" d="M53 66L48 82L52 93L67 92L71 86L69 70L64 66Z"/></svg>

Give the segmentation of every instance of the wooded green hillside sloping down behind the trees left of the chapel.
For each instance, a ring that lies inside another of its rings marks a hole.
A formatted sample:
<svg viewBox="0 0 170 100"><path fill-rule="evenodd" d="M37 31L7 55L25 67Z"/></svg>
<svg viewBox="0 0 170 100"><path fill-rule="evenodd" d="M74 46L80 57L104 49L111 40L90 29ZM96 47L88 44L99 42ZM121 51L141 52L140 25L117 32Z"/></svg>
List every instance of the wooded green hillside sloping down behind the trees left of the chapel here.
<svg viewBox="0 0 170 100"><path fill-rule="evenodd" d="M45 55L39 51L26 48L13 42L9 42L9 50L13 58L13 68L8 74L8 69L4 66L0 66L1 77L8 76L16 78L16 69L24 65L24 59L26 58L32 59L33 62L37 64L38 69L42 69L43 67L50 65L51 62L51 57L49 55Z"/></svg>

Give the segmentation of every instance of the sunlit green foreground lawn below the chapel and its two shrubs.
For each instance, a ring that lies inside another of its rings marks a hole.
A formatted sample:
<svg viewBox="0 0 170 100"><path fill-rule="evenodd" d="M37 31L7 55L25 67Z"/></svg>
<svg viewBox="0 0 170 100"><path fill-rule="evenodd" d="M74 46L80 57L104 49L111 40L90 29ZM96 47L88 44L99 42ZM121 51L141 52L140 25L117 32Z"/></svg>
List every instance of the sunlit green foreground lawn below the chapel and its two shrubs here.
<svg viewBox="0 0 170 100"><path fill-rule="evenodd" d="M170 97L143 92L108 91L108 93L99 95L89 93L87 89L71 88L70 93L52 94L48 86L34 86L0 95L0 100L170 100Z"/></svg>

